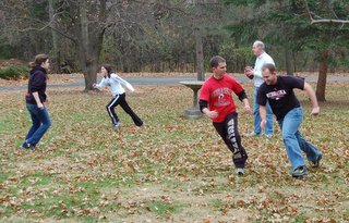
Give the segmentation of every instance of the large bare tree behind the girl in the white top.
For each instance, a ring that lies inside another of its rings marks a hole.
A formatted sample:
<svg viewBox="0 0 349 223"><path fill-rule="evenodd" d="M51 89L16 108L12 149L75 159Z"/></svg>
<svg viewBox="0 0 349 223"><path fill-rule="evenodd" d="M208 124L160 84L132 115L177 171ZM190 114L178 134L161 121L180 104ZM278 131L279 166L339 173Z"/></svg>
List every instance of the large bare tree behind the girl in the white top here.
<svg viewBox="0 0 349 223"><path fill-rule="evenodd" d="M153 1L50 0L49 3L48 5L46 1L35 0L23 0L20 3L13 0L3 2L10 9L7 14L8 21L16 21L11 24L16 30L44 32L51 28L53 38L58 33L60 37L74 42L77 61L85 77L85 90L91 90L96 82L106 30L122 27L122 30L132 32L132 27L137 27L137 24L142 23L140 18L142 15L152 15L148 5L152 5ZM40 11L45 16L34 16L23 7L39 4L41 8L35 12ZM24 12L25 16L22 13L14 13L19 11ZM137 15L135 16L137 20L129 16L131 14L129 12Z"/></svg>

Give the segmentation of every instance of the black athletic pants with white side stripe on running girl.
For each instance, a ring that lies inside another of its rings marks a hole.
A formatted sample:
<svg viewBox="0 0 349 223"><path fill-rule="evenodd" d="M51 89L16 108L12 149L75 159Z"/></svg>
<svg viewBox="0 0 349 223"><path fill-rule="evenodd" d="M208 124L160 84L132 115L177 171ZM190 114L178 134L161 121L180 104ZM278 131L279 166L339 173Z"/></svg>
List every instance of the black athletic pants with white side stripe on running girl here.
<svg viewBox="0 0 349 223"><path fill-rule="evenodd" d="M129 107L127 100L125 100L125 94L116 95L115 98L111 99L111 101L107 104L107 111L111 119L112 124L117 124L119 122L119 117L116 114L115 108L120 104L123 111L125 111L133 120L134 124L136 126L142 126L143 122L142 120L132 111L132 109Z"/></svg>

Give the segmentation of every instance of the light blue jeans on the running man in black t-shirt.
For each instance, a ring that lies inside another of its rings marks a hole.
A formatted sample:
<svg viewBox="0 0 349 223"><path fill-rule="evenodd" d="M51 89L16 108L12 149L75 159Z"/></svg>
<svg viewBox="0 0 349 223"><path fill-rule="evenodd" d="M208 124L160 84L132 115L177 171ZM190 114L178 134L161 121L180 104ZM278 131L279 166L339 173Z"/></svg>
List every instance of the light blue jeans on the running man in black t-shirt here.
<svg viewBox="0 0 349 223"><path fill-rule="evenodd" d="M314 145L306 141L299 132L299 126L302 121L302 107L292 109L286 114L284 120L278 121L282 133L286 152L293 170L305 165L302 151L305 152L309 161L316 161L317 157L321 154L320 150Z"/></svg>

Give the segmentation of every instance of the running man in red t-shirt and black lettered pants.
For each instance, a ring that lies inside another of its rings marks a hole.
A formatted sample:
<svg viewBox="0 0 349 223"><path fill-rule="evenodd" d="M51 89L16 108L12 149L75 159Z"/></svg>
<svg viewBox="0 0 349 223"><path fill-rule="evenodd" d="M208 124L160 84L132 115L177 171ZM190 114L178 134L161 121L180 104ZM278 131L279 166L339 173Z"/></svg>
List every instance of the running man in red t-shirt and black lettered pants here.
<svg viewBox="0 0 349 223"><path fill-rule="evenodd" d="M243 102L245 112L251 112L249 100L243 87L232 76L227 74L226 60L219 55L209 61L213 75L204 83L200 94L200 110L213 121L229 150L238 175L244 174L248 153L241 146L238 131L238 113L232 92Z"/></svg>

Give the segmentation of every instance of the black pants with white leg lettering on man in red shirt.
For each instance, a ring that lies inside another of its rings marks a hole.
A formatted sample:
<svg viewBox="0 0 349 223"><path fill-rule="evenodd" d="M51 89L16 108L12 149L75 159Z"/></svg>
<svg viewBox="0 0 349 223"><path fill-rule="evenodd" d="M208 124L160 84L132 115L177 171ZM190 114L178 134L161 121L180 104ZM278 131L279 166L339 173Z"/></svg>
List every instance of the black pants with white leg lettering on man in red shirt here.
<svg viewBox="0 0 349 223"><path fill-rule="evenodd" d="M237 168L244 168L248 153L241 146L241 137L238 131L238 113L232 112L227 115L225 122L214 122L213 125L232 152L233 164Z"/></svg>

